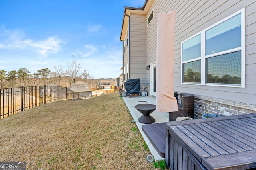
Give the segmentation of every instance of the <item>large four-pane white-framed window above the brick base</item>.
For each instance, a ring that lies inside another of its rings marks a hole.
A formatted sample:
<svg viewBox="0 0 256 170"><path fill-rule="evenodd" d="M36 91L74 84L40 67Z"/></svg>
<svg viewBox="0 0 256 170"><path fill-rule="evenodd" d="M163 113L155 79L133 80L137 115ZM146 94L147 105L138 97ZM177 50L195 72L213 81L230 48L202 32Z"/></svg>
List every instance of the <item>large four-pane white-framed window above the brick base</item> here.
<svg viewBox="0 0 256 170"><path fill-rule="evenodd" d="M244 9L181 43L182 83L244 87Z"/></svg>

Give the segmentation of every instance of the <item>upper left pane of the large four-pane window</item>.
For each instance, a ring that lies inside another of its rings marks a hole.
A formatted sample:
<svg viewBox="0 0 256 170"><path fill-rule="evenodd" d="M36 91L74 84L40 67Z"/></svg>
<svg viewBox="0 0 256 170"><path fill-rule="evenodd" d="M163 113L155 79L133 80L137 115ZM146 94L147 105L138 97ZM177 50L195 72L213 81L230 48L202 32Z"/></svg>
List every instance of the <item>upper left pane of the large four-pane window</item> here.
<svg viewBox="0 0 256 170"><path fill-rule="evenodd" d="M201 35L182 43L182 61L201 57Z"/></svg>

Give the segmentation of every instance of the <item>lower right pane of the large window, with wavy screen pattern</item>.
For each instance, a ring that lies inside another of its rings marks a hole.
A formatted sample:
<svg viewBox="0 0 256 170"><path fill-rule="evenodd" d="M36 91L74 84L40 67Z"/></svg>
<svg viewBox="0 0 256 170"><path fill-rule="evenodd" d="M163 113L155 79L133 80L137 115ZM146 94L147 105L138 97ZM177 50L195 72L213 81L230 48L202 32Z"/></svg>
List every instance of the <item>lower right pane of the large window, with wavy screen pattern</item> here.
<svg viewBox="0 0 256 170"><path fill-rule="evenodd" d="M241 84L241 51L206 59L207 83Z"/></svg>

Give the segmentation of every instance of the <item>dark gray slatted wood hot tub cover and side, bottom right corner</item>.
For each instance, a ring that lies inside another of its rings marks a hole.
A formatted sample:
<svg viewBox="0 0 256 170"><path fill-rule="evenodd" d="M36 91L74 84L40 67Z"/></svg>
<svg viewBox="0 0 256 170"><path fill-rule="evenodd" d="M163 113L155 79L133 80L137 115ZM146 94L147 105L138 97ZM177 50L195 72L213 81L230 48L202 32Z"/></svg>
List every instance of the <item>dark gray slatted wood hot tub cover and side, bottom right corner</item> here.
<svg viewBox="0 0 256 170"><path fill-rule="evenodd" d="M256 168L256 114L167 122L171 170Z"/></svg>

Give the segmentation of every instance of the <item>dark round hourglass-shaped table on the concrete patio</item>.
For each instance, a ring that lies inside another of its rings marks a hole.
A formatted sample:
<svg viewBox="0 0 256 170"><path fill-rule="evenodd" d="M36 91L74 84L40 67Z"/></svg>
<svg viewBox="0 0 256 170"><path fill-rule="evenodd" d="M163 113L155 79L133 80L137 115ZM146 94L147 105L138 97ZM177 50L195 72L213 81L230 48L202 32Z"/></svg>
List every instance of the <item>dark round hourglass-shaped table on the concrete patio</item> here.
<svg viewBox="0 0 256 170"><path fill-rule="evenodd" d="M134 106L135 109L137 109L140 113L142 113L142 116L138 118L138 121L140 123L144 124L150 124L154 123L155 119L150 116L150 114L156 110L156 105L154 104L137 104Z"/></svg>

